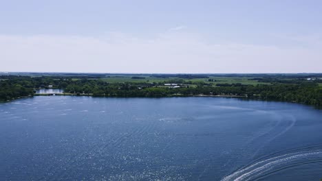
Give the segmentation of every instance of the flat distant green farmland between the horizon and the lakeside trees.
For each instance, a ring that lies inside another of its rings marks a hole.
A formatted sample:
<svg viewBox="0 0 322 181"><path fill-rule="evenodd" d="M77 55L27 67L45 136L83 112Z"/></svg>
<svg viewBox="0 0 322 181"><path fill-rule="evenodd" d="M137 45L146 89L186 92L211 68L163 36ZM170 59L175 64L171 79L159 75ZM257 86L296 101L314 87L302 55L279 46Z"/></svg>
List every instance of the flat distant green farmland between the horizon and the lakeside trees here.
<svg viewBox="0 0 322 181"><path fill-rule="evenodd" d="M1 73L0 73L1 75ZM8 73L3 75L9 75ZM55 76L54 80L59 80L61 77L72 78L73 81L87 78L87 80L103 80L105 82L179 82L178 80L184 80L186 84L196 85L197 82L211 84L216 86L217 84L244 84L244 85L257 85L257 84L270 84L267 82L258 82L253 80L254 78L269 77L272 80L303 80L307 77L322 77L322 74L114 74L114 73L10 73L10 75L22 75L31 77L41 76ZM207 77L208 76L208 77ZM58 78L57 78L58 77ZM132 77L136 77L133 79ZM142 78L140 78L142 77ZM200 78L202 77L202 78ZM3 78L3 77L2 77ZM208 80L214 80L209 82ZM1 79L0 79L1 80ZM6 80L2 79L2 80ZM322 84L319 84L322 87Z"/></svg>

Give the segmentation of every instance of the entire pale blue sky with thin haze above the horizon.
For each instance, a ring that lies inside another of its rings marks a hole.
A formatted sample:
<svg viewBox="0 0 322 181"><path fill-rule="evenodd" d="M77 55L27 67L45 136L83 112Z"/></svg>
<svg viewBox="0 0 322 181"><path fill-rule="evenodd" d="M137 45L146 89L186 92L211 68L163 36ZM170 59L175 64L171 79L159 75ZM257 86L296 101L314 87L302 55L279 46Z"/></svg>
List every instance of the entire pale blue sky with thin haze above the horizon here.
<svg viewBox="0 0 322 181"><path fill-rule="evenodd" d="M322 1L0 0L0 71L322 73Z"/></svg>

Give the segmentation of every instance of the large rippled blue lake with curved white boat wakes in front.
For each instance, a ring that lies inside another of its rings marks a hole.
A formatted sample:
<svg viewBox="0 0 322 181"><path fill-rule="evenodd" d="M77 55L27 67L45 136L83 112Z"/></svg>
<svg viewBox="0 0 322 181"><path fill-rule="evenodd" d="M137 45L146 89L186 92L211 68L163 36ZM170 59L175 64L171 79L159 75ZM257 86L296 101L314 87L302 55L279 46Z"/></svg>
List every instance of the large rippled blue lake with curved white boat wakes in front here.
<svg viewBox="0 0 322 181"><path fill-rule="evenodd" d="M319 180L322 112L215 97L0 104L0 180Z"/></svg>

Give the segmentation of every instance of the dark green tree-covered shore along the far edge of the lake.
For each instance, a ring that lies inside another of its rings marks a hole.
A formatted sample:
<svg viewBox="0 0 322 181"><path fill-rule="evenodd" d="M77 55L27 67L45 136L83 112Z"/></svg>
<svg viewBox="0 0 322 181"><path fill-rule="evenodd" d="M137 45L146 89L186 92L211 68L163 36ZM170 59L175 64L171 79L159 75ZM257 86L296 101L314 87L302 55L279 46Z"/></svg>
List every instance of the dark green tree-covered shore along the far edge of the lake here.
<svg viewBox="0 0 322 181"><path fill-rule="evenodd" d="M213 80L164 79L159 82L106 82L98 78L1 76L0 100L33 96L38 88L61 88L65 93L96 97L189 97L232 96L288 101L322 107L321 80L260 78L269 84L221 83ZM252 78L254 79L254 78ZM169 86L170 85L170 86ZM175 86L173 86L175 85Z"/></svg>

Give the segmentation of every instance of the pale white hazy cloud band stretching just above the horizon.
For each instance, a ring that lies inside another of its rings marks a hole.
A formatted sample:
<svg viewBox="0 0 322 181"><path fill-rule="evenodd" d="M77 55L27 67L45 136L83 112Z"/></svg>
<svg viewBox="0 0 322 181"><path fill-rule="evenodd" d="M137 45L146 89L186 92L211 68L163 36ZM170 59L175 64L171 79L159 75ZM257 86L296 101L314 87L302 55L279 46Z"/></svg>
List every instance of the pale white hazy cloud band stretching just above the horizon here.
<svg viewBox="0 0 322 181"><path fill-rule="evenodd" d="M0 36L0 71L104 73L322 72L322 47L209 44L200 36Z"/></svg>

